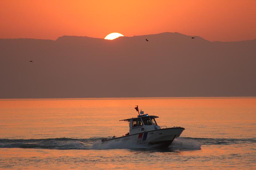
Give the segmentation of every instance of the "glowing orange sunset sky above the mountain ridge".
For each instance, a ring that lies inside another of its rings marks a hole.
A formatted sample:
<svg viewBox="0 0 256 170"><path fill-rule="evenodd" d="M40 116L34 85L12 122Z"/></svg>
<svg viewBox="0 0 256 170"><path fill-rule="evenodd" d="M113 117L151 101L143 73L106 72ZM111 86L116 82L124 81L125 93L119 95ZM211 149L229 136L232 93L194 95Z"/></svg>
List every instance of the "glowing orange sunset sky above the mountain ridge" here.
<svg viewBox="0 0 256 170"><path fill-rule="evenodd" d="M255 0L1 0L0 38L178 32L209 41L252 40L255 9Z"/></svg>

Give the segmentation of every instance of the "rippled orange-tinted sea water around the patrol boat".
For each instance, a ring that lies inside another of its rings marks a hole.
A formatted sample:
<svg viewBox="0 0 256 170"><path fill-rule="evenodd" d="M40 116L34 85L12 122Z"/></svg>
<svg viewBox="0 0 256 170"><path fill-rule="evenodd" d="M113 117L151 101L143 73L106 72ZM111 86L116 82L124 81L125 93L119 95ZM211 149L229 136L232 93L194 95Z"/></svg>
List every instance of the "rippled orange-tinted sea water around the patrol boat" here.
<svg viewBox="0 0 256 170"><path fill-rule="evenodd" d="M168 148L101 143L156 115ZM256 97L1 99L0 169L256 169Z"/></svg>

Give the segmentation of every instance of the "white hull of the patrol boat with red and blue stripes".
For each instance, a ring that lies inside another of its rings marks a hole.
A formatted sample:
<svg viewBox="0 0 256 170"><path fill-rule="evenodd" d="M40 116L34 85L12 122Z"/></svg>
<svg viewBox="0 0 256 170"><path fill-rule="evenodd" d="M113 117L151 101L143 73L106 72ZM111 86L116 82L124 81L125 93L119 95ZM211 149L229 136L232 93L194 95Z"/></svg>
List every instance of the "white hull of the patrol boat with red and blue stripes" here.
<svg viewBox="0 0 256 170"><path fill-rule="evenodd" d="M149 144L156 145L156 147L168 147L174 139L180 136L184 128L166 128L147 131L143 133L116 137L102 140L103 143L111 141L129 141L132 144Z"/></svg>

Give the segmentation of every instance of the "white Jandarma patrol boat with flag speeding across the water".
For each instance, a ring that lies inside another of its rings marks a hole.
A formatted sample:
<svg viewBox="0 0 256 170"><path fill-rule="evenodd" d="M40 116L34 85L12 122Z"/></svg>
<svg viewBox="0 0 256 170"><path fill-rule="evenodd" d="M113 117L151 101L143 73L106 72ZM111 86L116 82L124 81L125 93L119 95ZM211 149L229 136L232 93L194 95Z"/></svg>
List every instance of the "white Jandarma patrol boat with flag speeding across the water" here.
<svg viewBox="0 0 256 170"><path fill-rule="evenodd" d="M139 112L138 106L135 109ZM109 137L102 139L102 143L114 142L114 141L129 141L134 144L148 144L154 145L154 147L166 148L172 141L180 136L185 130L181 127L167 128L166 126L159 126L156 123L158 116L144 114L144 111L140 110L139 115L135 118L124 119L120 121L129 122L129 133L122 137Z"/></svg>

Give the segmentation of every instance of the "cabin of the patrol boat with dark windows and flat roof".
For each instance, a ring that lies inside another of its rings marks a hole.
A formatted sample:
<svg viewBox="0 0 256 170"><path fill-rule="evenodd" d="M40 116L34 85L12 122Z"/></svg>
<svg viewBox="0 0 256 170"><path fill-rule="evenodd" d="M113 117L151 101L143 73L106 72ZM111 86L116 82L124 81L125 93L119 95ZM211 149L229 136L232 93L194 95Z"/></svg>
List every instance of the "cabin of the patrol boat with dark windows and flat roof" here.
<svg viewBox="0 0 256 170"><path fill-rule="evenodd" d="M161 129L157 125L155 118L158 116L149 116L148 114L144 115L143 111L140 111L140 115L136 118L124 119L120 121L129 122L130 132L129 135L144 133L152 130Z"/></svg>

